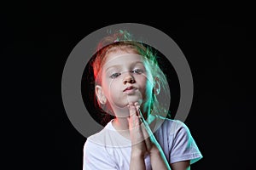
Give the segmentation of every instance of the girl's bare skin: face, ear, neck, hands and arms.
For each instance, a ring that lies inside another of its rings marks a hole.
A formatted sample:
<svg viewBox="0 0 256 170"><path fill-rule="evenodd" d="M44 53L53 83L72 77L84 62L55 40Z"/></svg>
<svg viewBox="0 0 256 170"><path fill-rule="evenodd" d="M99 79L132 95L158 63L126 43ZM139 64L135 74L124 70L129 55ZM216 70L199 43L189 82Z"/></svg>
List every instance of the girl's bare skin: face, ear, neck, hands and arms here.
<svg viewBox="0 0 256 170"><path fill-rule="evenodd" d="M117 50L106 57L102 67L102 84L96 86L96 96L102 105L108 101L116 116L113 127L131 140L130 169L145 169L146 154L150 156L152 169L168 169L160 156L160 150L148 138L148 133L139 120L139 106L143 99L147 99L148 80L143 58L134 51L127 50ZM131 90L124 91L131 86ZM178 161L170 167L172 170L190 169L189 161Z"/></svg>

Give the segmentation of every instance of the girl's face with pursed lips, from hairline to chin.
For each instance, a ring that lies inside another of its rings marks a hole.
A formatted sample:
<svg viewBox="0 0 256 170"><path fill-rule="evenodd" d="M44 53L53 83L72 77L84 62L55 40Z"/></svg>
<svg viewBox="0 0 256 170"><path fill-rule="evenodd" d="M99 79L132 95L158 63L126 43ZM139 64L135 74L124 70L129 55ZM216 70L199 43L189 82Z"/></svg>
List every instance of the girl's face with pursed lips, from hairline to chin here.
<svg viewBox="0 0 256 170"><path fill-rule="evenodd" d="M102 66L102 92L112 108L146 99L147 72L143 57L132 51L114 51Z"/></svg>

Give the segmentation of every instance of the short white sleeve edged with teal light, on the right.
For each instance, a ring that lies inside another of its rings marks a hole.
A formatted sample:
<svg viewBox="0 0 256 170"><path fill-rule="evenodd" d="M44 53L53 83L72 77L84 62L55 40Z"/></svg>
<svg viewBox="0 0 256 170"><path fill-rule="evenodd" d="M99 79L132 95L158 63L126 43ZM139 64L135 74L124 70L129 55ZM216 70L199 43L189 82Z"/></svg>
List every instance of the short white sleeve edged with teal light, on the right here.
<svg viewBox="0 0 256 170"><path fill-rule="evenodd" d="M190 160L190 164L202 158L201 151L195 144L189 128L180 121L176 121L171 130L173 137L170 150L170 163Z"/></svg>

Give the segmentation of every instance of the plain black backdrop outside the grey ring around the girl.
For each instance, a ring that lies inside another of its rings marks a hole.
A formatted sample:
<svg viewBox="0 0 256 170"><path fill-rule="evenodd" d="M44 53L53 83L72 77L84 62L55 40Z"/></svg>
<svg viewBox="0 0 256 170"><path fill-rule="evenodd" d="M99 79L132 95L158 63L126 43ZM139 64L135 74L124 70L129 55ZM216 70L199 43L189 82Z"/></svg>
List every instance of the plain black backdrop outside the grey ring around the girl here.
<svg viewBox="0 0 256 170"><path fill-rule="evenodd" d="M15 137L9 147L14 150L9 151L10 167L82 169L86 139L69 122L61 99L66 59L91 32L132 22L165 32L189 62L195 91L185 123L204 156L192 169L253 168L255 18L250 5L181 5L175 12L175 5L139 9L133 3L127 8L120 3L104 9L64 2L14 3L8 7L1 12L1 55L19 68L9 71L9 79L15 80L14 95L9 99L17 104L11 107L17 109L19 122L19 127L9 132Z"/></svg>

